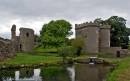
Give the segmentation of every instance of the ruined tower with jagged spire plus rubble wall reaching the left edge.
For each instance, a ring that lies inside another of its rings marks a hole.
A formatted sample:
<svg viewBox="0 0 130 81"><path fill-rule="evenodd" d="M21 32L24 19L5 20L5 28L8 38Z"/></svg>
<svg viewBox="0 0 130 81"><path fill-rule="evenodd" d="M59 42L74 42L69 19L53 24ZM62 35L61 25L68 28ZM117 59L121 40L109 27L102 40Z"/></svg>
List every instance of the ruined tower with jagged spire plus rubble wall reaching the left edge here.
<svg viewBox="0 0 130 81"><path fill-rule="evenodd" d="M31 52L35 44L34 31L20 28L20 35L16 36L16 25L11 28L11 40L0 38L0 60L16 55L16 52Z"/></svg>

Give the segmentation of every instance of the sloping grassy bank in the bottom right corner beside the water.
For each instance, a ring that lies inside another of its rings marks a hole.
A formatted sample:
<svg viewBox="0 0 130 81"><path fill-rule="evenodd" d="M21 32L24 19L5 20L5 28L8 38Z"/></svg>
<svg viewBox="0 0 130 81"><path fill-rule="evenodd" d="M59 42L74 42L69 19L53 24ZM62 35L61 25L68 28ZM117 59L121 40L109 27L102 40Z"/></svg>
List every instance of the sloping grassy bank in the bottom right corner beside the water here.
<svg viewBox="0 0 130 81"><path fill-rule="evenodd" d="M117 68L109 74L107 81L130 81L130 57L118 63Z"/></svg>

